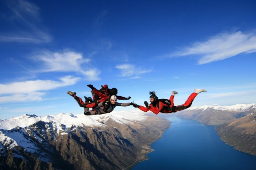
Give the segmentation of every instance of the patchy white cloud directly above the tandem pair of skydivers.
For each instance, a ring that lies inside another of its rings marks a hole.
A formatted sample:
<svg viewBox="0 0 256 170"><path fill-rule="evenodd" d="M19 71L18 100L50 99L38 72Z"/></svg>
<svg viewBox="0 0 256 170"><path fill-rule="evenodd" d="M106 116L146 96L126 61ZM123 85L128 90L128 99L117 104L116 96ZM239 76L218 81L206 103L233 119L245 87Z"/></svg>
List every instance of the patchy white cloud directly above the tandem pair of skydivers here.
<svg viewBox="0 0 256 170"><path fill-rule="evenodd" d="M90 69L90 59L83 58L83 54L64 50L61 53L41 51L31 57L41 63L37 72L77 72L86 76L87 80L100 80L99 70Z"/></svg>

